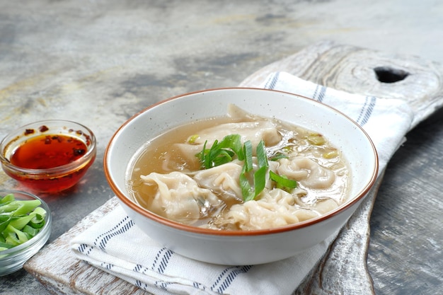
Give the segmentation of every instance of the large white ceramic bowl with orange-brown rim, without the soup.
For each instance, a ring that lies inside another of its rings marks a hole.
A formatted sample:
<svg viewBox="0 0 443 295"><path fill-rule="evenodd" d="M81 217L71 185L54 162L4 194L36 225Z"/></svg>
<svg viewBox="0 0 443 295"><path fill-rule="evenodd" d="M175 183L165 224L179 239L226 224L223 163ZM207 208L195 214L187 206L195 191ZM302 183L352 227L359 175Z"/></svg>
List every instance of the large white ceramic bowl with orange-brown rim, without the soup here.
<svg viewBox="0 0 443 295"><path fill-rule="evenodd" d="M127 169L146 141L185 122L226 115L229 103L256 115L276 117L324 134L343 151L350 164L350 199L316 219L257 231L215 231L186 226L132 202L127 190ZM254 265L289 258L336 233L374 185L378 158L364 130L333 108L280 91L221 88L169 98L131 117L110 140L104 168L108 183L127 214L142 231L166 248L204 262Z"/></svg>

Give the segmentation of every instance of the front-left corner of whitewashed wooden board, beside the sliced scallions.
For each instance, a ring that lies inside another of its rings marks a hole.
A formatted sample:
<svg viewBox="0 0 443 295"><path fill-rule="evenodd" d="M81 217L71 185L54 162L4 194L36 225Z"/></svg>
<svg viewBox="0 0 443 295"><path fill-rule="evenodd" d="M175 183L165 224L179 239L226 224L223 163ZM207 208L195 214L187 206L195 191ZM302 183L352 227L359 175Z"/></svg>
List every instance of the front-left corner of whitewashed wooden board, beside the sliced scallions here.
<svg viewBox="0 0 443 295"><path fill-rule="evenodd" d="M69 243L117 206L113 197L24 265L52 294L146 294L145 291L74 257Z"/></svg>

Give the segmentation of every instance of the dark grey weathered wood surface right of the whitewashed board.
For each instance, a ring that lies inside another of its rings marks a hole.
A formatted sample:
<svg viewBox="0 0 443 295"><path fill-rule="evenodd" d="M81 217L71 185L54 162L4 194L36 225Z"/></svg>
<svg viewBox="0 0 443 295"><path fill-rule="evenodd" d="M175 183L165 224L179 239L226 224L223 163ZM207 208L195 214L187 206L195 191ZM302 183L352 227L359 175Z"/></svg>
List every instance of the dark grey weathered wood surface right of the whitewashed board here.
<svg viewBox="0 0 443 295"><path fill-rule="evenodd" d="M370 220L377 295L443 294L443 109L391 158Z"/></svg>

